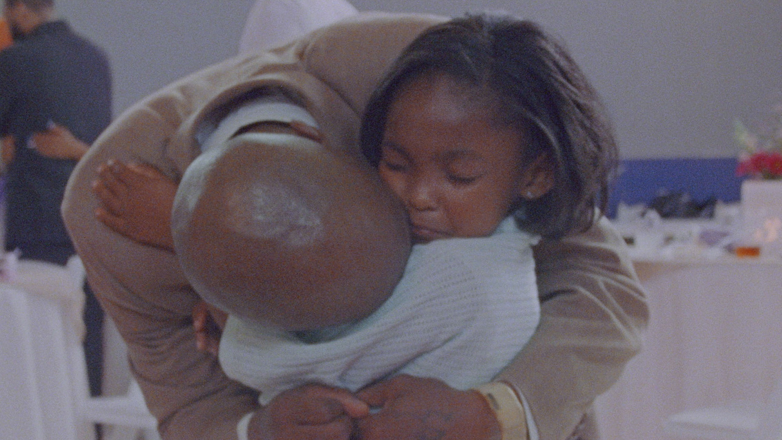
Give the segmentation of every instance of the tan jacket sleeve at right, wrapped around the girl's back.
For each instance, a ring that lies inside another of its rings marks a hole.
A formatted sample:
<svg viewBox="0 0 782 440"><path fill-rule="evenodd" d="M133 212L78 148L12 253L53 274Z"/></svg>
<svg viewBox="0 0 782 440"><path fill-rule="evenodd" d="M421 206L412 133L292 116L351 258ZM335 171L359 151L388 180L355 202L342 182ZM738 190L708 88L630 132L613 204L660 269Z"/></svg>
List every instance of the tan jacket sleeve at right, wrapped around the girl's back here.
<svg viewBox="0 0 782 440"><path fill-rule="evenodd" d="M572 434L640 349L649 311L610 222L535 249L540 326L497 377L524 395L541 440Z"/></svg>

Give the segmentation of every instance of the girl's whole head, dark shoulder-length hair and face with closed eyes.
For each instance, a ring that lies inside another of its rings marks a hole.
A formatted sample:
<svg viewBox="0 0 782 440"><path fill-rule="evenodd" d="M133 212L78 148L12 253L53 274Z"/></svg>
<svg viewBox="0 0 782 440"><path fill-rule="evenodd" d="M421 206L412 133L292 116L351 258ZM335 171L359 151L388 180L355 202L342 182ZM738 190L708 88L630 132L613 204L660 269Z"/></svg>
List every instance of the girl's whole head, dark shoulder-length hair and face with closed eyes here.
<svg viewBox="0 0 782 440"><path fill-rule="evenodd" d="M441 232L432 238L486 235L508 215L547 238L586 229L617 156L597 94L565 49L502 16L416 39L371 98L362 144L419 235ZM419 205L416 190L438 203Z"/></svg>

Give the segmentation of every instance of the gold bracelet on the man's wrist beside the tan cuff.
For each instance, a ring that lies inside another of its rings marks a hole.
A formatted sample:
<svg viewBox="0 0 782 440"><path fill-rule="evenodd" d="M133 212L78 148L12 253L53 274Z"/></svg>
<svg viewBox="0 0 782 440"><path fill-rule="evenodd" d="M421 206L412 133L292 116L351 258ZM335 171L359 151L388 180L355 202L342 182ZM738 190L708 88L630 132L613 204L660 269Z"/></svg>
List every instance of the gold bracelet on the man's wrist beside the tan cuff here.
<svg viewBox="0 0 782 440"><path fill-rule="evenodd" d="M497 415L502 440L529 440L526 411L510 385L489 382L472 389L481 393Z"/></svg>

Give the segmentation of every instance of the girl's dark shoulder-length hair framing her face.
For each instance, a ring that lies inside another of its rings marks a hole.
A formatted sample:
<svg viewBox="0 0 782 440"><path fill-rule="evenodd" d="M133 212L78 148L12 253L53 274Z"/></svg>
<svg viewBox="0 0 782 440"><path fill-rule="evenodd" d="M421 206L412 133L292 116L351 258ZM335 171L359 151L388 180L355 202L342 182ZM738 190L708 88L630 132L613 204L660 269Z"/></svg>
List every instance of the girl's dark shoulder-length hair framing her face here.
<svg viewBox="0 0 782 440"><path fill-rule="evenodd" d="M524 134L526 160L547 155L554 187L518 200L518 227L549 238L590 227L604 210L617 148L597 93L563 45L535 23L511 16L465 16L430 27L393 64L372 94L361 149L381 157L386 116L396 94L425 74L446 74L488 94L494 120Z"/></svg>

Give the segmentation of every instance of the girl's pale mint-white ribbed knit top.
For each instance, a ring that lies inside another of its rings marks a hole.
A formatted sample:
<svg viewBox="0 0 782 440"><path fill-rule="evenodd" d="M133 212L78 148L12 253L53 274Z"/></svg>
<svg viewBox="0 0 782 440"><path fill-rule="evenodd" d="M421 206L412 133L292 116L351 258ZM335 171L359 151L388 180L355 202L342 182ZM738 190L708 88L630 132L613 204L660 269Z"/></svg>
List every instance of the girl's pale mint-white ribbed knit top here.
<svg viewBox="0 0 782 440"><path fill-rule="evenodd" d="M393 295L360 323L315 343L229 317L220 362L265 404L317 382L356 391L407 373L466 389L491 380L540 319L531 246L511 218L492 236L413 247Z"/></svg>

